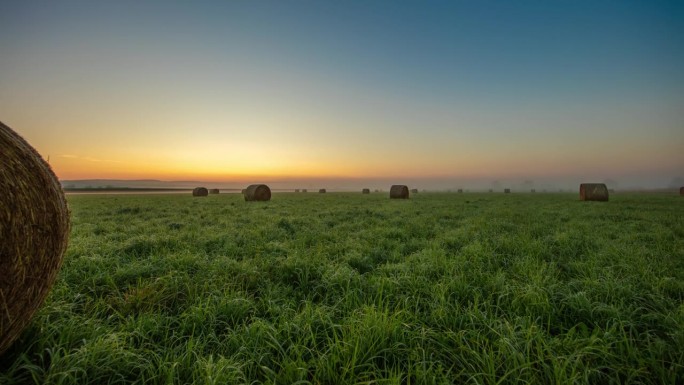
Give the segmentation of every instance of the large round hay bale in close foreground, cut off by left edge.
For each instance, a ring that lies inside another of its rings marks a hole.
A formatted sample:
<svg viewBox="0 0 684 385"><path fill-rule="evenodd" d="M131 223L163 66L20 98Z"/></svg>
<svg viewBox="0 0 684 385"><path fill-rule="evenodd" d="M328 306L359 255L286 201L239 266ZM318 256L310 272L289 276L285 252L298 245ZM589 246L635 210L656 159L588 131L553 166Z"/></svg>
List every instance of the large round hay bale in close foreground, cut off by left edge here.
<svg viewBox="0 0 684 385"><path fill-rule="evenodd" d="M0 122L0 355L43 303L62 265L69 209L50 166Z"/></svg>

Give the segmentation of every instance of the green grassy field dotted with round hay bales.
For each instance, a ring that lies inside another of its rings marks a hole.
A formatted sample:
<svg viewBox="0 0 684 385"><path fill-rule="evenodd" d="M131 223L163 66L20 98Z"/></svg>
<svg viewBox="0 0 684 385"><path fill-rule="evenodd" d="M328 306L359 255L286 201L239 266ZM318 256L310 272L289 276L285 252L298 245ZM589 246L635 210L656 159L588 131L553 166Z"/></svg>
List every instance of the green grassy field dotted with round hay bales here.
<svg viewBox="0 0 684 385"><path fill-rule="evenodd" d="M69 203L1 384L684 383L679 196Z"/></svg>

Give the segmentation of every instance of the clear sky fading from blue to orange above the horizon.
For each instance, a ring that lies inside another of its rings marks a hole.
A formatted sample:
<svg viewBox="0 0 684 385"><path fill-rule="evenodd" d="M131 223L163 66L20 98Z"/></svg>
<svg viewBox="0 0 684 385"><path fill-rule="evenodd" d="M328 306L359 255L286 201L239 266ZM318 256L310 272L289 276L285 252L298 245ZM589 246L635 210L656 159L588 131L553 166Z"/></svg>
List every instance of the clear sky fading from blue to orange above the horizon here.
<svg viewBox="0 0 684 385"><path fill-rule="evenodd" d="M62 180L684 177L681 1L2 2L0 52Z"/></svg>

